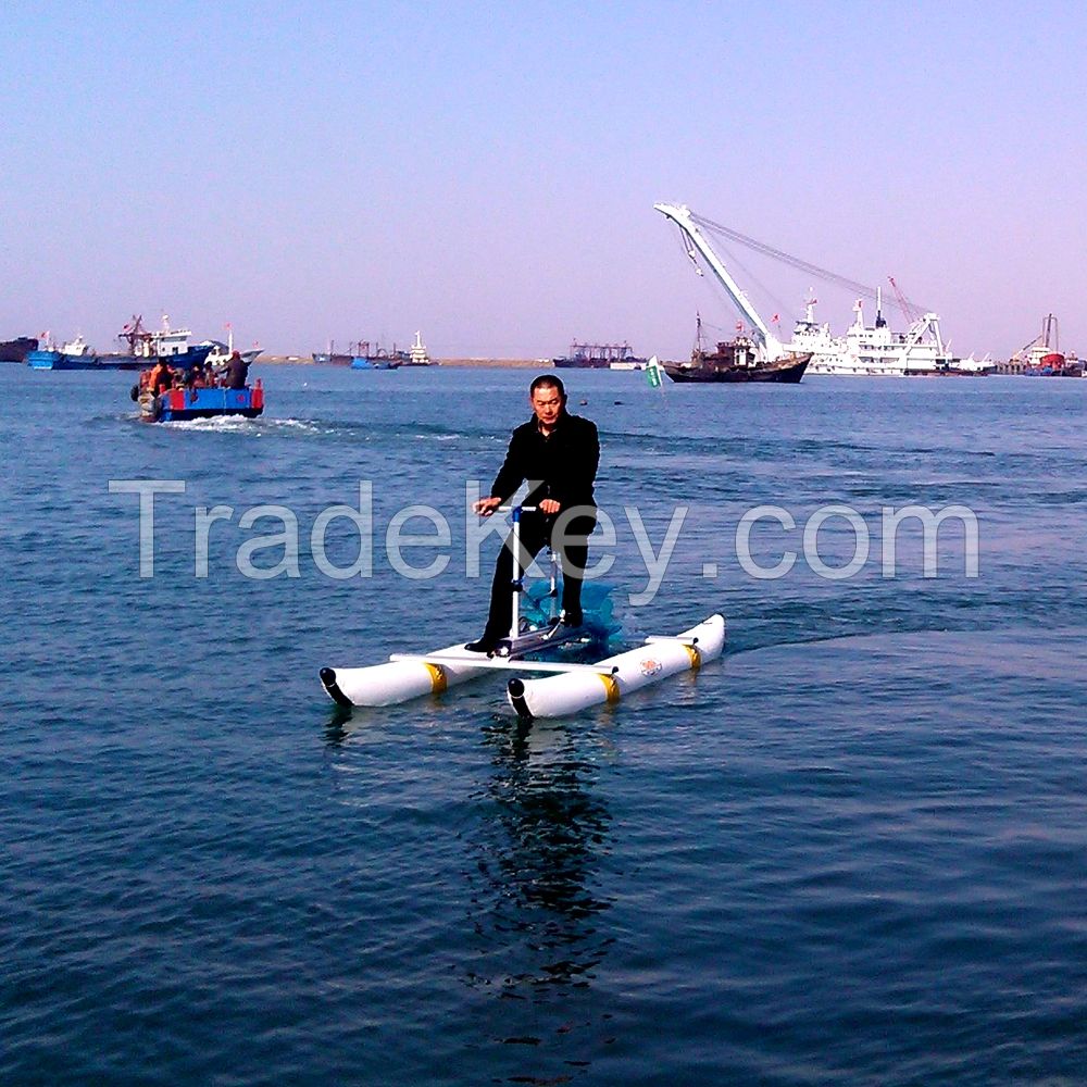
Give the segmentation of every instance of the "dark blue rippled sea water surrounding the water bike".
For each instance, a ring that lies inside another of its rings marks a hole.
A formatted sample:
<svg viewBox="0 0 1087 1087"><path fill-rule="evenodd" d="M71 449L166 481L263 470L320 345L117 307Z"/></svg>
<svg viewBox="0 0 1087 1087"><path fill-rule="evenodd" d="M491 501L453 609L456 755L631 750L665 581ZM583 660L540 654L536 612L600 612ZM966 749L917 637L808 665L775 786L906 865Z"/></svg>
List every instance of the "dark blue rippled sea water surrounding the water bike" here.
<svg viewBox="0 0 1087 1087"><path fill-rule="evenodd" d="M532 373L253 373L0 367L0 1080L1084 1082L1087 382L564 374L624 637L728 644L525 726L317 670L479 633Z"/></svg>

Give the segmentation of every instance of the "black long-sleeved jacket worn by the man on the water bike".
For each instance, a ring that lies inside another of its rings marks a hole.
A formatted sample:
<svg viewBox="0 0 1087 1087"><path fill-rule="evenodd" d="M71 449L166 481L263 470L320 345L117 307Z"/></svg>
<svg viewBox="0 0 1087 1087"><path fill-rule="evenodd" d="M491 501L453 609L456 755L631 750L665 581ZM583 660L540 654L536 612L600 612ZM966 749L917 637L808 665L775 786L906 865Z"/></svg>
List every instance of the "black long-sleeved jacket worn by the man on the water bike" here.
<svg viewBox="0 0 1087 1087"><path fill-rule="evenodd" d="M575 520L567 530L588 534L596 523L592 483L599 462L600 440L595 423L563 412L550 436L544 437L534 415L513 432L490 493L505 502L527 480L532 489L523 504L538 505L545 498L552 498L561 507L560 517L575 505L586 507L587 515Z"/></svg>

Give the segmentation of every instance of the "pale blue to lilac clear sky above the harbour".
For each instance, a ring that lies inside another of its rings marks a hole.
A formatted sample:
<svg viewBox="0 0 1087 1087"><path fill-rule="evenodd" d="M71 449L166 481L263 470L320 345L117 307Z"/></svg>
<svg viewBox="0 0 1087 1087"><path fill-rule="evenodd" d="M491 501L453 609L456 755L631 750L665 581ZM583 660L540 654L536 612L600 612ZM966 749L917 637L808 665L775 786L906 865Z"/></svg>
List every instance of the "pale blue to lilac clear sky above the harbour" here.
<svg viewBox="0 0 1087 1087"><path fill-rule="evenodd" d="M0 337L679 357L733 312L666 200L895 275L964 354L1050 310L1087 353L1085 65L1073 2L9 0Z"/></svg>

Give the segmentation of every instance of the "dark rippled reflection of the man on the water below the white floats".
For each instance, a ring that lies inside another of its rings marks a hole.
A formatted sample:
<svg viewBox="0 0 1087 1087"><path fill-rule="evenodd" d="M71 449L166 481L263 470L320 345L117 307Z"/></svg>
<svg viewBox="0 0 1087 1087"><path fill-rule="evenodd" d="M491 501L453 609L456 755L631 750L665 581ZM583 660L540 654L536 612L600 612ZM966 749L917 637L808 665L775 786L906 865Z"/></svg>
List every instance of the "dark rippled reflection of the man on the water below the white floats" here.
<svg viewBox="0 0 1087 1087"><path fill-rule="evenodd" d="M467 872L477 953L465 980L499 998L491 1040L513 1047L510 1080L565 1082L609 1040L578 996L588 995L614 942L601 924L610 903L599 890L611 814L576 735L498 719L484 735L492 773L472 798L487 810ZM546 1035L541 1024L555 1017L536 1014L544 1004L561 1008L560 1026ZM566 1075L555 1078L559 1070Z"/></svg>

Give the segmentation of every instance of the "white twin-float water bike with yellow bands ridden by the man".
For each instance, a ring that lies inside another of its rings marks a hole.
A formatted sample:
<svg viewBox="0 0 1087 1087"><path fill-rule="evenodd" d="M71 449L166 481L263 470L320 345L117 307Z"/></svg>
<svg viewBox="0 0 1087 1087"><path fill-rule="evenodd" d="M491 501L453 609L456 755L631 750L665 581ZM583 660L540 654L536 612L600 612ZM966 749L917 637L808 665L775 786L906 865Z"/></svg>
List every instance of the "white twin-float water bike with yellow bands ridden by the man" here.
<svg viewBox="0 0 1087 1087"><path fill-rule="evenodd" d="M623 695L678 672L698 671L719 658L725 644L725 621L711 615L688 630L646 638L642 646L596 663L561 660L527 660L552 650L585 647L592 641L585 627L567 626L559 614L559 559L549 549L550 582L545 594L547 615L540 620L523 614L526 592L521 569L521 514L535 507L500 507L513 524L513 603L510 633L490 653L471 652L463 642L432 653L392 653L387 664L357 669L321 670L321 683L337 704L395 705L475 679L488 672L540 673L545 678L514 676L507 698L517 715L559 717L591 705L617 702Z"/></svg>

